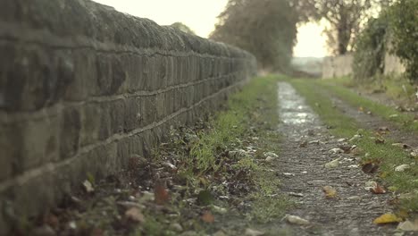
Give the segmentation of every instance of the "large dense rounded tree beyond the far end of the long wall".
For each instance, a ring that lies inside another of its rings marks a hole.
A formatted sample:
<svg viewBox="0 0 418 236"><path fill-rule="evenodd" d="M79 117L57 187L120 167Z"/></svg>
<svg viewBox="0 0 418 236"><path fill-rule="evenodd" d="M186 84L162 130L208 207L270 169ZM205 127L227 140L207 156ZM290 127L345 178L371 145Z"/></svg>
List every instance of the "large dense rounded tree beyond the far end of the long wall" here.
<svg viewBox="0 0 418 236"><path fill-rule="evenodd" d="M210 38L246 49L264 69L285 71L297 37L288 0L230 0Z"/></svg>

